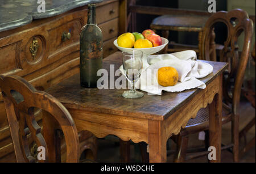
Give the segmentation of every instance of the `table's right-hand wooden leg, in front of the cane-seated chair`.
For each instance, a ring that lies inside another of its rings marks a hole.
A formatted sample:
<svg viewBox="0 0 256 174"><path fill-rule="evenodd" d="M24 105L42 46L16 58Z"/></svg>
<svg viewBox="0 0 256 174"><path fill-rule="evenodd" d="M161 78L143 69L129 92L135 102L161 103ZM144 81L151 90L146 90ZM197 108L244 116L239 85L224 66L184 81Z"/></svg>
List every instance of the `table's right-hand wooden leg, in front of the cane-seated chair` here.
<svg viewBox="0 0 256 174"><path fill-rule="evenodd" d="M219 93L214 96L211 104L209 104L209 137L210 146L216 148L216 160L210 162L221 162L221 130L222 130L222 75L220 79Z"/></svg>

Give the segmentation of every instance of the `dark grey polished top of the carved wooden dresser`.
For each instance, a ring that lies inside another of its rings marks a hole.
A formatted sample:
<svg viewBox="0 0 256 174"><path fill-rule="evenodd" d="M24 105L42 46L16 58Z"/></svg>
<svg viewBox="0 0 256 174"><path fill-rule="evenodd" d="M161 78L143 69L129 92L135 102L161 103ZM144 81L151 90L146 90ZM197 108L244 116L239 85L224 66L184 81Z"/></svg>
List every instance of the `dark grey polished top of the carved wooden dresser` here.
<svg viewBox="0 0 256 174"><path fill-rule="evenodd" d="M33 19L49 18L89 3L103 0L45 0L46 12L38 12L37 0L0 1L0 32L31 23Z"/></svg>

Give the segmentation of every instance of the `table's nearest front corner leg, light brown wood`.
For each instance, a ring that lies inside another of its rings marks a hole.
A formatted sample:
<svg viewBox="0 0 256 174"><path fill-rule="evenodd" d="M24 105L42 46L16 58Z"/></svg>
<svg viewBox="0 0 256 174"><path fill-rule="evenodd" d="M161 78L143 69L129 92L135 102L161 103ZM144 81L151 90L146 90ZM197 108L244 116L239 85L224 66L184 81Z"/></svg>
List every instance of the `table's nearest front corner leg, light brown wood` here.
<svg viewBox="0 0 256 174"><path fill-rule="evenodd" d="M150 163L166 163L167 140L164 138L161 122L150 120L148 122L148 146Z"/></svg>

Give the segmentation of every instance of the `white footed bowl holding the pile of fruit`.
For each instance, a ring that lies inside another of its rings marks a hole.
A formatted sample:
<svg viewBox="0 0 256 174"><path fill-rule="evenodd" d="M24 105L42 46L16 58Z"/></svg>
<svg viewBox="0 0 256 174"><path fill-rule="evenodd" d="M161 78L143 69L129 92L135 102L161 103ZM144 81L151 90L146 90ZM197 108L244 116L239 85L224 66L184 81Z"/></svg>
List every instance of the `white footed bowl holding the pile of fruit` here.
<svg viewBox="0 0 256 174"><path fill-rule="evenodd" d="M160 52L160 50L162 50L169 43L168 39L165 39L164 37L161 37L161 38L162 38L162 45L155 46L152 48L123 48L117 45L117 39L114 41L114 45L122 52L128 51L128 50L141 50L143 52L143 60L147 60L148 56L150 56L151 54Z"/></svg>

